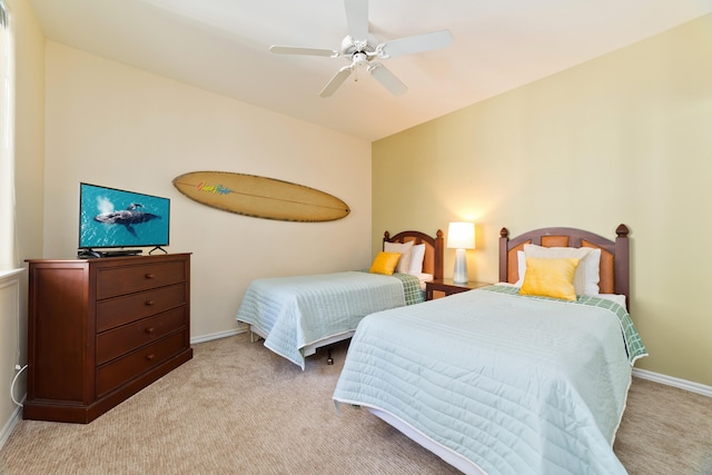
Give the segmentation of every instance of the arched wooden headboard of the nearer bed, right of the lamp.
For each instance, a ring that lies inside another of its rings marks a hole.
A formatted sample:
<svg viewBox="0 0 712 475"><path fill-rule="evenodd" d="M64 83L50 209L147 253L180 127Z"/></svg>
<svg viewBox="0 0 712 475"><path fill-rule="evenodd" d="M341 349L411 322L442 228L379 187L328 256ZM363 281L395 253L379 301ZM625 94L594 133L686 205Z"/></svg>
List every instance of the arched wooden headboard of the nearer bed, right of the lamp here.
<svg viewBox="0 0 712 475"><path fill-rule="evenodd" d="M500 281L514 284L520 278L517 250L525 244L545 247L593 247L601 249L599 288L601 294L625 296L630 307L630 250L627 227L615 229L615 240L575 228L542 228L510 238L507 228L500 231Z"/></svg>

